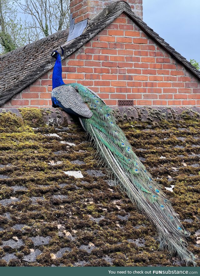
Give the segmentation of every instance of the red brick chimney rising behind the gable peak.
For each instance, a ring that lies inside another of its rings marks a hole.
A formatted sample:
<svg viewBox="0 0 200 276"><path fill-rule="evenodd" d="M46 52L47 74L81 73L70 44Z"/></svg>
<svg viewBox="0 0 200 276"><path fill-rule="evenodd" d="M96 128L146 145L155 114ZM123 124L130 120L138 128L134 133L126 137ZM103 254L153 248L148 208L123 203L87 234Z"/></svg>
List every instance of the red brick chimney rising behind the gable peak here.
<svg viewBox="0 0 200 276"><path fill-rule="evenodd" d="M75 23L84 19L92 19L116 0L70 0L70 13L73 13ZM143 0L127 0L132 11L143 19Z"/></svg>

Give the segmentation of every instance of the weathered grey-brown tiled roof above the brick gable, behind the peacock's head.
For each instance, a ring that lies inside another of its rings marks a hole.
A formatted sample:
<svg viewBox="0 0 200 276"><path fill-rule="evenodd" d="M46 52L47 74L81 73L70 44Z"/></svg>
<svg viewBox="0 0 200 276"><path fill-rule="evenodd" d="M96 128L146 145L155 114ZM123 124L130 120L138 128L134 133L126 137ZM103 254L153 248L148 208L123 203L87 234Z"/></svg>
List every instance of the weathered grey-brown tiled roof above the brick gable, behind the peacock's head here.
<svg viewBox="0 0 200 276"><path fill-rule="evenodd" d="M200 80L200 71L192 66L181 54L176 52L163 38L159 37L153 29L149 28L146 23L136 16L131 11L128 3L118 1L98 13L89 22L83 34L74 39L70 44L65 43L67 41L68 30L64 30L0 56L0 106L39 78L43 73L53 68L54 60L49 57L53 48L59 48L62 45L65 51L62 59L66 58L108 26L123 12L149 37L162 46L173 58Z"/></svg>

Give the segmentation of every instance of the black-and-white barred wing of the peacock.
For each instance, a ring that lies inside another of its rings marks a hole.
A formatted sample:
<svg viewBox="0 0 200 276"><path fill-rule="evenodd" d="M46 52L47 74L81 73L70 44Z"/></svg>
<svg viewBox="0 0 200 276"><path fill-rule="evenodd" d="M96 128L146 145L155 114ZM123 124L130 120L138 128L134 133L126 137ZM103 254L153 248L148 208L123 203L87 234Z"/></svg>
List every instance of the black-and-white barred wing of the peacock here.
<svg viewBox="0 0 200 276"><path fill-rule="evenodd" d="M62 85L52 90L52 104L63 108L67 113L82 118L91 118L93 113L83 102L78 91L70 85Z"/></svg>

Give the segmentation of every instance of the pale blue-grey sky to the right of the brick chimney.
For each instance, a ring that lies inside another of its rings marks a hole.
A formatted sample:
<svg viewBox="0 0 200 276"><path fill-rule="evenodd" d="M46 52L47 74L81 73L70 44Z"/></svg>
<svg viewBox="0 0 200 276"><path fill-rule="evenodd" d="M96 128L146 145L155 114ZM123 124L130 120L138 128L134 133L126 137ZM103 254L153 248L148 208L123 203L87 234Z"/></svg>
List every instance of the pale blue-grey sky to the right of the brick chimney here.
<svg viewBox="0 0 200 276"><path fill-rule="evenodd" d="M200 62L200 0L143 0L143 21L187 60Z"/></svg>

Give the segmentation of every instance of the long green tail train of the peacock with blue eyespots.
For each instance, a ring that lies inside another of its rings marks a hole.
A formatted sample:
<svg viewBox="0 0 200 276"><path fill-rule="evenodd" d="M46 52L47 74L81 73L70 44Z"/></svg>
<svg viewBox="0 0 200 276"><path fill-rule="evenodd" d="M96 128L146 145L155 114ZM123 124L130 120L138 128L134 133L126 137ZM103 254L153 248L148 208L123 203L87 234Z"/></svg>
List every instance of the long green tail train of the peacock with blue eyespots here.
<svg viewBox="0 0 200 276"><path fill-rule="evenodd" d="M116 124L112 109L90 89L77 83L70 85L78 90L93 112L92 118L81 118L83 128L94 141L101 160L109 168L120 190L156 226L160 249L177 253L186 264L195 265L195 258L187 249L185 240L190 233L183 228L166 195L133 152Z"/></svg>

